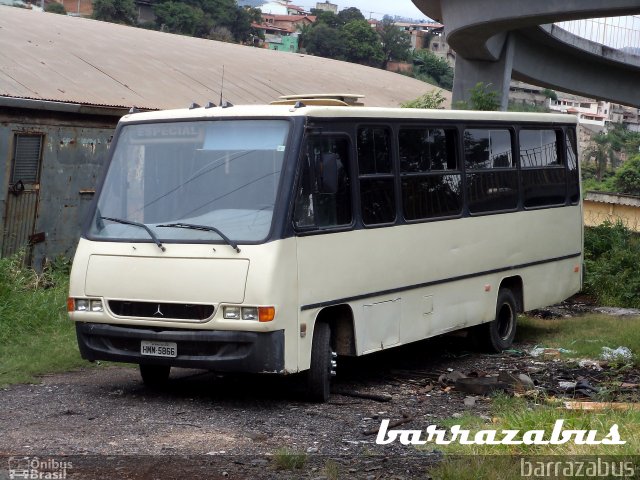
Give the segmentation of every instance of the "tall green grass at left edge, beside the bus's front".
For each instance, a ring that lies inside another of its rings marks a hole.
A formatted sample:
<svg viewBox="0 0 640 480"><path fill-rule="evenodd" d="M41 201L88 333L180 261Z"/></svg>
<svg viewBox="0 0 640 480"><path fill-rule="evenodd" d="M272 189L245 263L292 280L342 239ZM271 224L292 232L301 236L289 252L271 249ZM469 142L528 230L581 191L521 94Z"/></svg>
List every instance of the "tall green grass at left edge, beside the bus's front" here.
<svg viewBox="0 0 640 480"><path fill-rule="evenodd" d="M37 273L22 259L0 259L0 386L86 365L66 312L69 263Z"/></svg>

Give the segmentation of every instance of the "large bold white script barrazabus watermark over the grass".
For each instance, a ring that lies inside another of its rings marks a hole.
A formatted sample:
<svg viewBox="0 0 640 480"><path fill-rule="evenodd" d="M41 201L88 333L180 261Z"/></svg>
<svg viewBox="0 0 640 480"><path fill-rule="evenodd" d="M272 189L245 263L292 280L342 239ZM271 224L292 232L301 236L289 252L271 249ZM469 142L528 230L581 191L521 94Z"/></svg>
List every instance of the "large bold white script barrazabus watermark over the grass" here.
<svg viewBox="0 0 640 480"><path fill-rule="evenodd" d="M564 428L564 420L556 420L551 432L546 430L479 430L473 433L460 425L449 430L429 425L425 430L389 429L389 420L380 423L376 437L378 445L388 445L395 441L402 445L449 445L458 442L461 445L562 445L573 442L576 445L624 445L620 438L618 424L614 424L606 435L598 430L572 430Z"/></svg>

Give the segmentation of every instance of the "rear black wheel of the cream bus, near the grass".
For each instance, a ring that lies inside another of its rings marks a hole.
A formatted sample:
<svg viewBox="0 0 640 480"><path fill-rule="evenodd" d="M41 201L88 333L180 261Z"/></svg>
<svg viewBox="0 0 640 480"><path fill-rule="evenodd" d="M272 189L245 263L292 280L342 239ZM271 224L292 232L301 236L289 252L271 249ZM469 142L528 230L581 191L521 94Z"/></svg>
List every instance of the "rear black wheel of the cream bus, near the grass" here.
<svg viewBox="0 0 640 480"><path fill-rule="evenodd" d="M513 292L502 288L498 292L496 302L496 318L480 325L480 345L484 350L500 353L511 347L516 336L518 319L518 303Z"/></svg>

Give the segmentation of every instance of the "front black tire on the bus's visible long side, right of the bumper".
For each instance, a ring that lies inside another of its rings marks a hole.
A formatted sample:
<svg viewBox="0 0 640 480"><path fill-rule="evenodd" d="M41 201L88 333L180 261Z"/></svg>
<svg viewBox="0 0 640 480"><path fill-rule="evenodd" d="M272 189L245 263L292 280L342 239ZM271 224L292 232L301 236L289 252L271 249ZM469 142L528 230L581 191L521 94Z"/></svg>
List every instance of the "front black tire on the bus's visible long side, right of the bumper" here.
<svg viewBox="0 0 640 480"><path fill-rule="evenodd" d="M331 327L328 323L316 323L311 343L311 366L307 372L307 395L313 402L329 400L331 360Z"/></svg>

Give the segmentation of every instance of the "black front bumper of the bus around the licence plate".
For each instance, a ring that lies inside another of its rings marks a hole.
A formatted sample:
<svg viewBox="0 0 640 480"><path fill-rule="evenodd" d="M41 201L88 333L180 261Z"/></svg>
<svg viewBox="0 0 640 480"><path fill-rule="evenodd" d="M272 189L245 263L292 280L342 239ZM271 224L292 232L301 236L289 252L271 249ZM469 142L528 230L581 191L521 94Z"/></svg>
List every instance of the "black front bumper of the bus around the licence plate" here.
<svg viewBox="0 0 640 480"><path fill-rule="evenodd" d="M76 334L80 355L86 360L205 368L219 372L284 372L284 330L162 330L78 322ZM175 342L178 356L142 355L141 340Z"/></svg>

